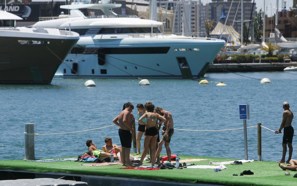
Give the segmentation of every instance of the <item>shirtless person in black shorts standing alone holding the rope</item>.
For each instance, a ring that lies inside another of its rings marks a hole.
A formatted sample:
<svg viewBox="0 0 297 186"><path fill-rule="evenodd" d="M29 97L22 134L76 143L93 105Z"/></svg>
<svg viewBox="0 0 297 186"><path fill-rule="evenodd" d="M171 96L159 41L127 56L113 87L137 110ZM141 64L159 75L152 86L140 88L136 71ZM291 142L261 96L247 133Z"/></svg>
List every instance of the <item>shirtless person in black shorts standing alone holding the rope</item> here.
<svg viewBox="0 0 297 186"><path fill-rule="evenodd" d="M284 136L282 137L282 159L279 160L277 163L289 163L292 158L292 141L294 135L294 128L292 127L292 120L293 120L293 112L289 109L290 105L287 101L282 104L282 108L285 110L282 113L282 124L280 125L279 129L276 130L274 133L282 133L282 128L284 128ZM287 153L287 145L289 147L289 158L285 161L286 153Z"/></svg>

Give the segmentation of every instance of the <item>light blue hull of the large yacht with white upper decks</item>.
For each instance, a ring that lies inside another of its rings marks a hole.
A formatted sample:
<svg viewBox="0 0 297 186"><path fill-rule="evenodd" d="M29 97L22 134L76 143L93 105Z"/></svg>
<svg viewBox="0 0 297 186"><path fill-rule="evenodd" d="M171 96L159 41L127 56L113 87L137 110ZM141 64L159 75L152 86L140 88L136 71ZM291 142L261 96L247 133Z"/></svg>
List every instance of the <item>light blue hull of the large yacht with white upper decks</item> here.
<svg viewBox="0 0 297 186"><path fill-rule="evenodd" d="M199 78L223 45L222 40L81 37L64 61L72 70L61 64L56 77L78 77L77 71L97 78Z"/></svg>

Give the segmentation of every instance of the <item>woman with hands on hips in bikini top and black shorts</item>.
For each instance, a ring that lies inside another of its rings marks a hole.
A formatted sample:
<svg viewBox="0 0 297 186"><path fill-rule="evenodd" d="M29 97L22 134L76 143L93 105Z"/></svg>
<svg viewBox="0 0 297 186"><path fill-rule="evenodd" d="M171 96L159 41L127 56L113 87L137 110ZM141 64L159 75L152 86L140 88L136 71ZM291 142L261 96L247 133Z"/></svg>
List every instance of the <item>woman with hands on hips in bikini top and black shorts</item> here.
<svg viewBox="0 0 297 186"><path fill-rule="evenodd" d="M165 117L154 112L155 106L152 102L147 102L144 105L144 108L146 109L147 112L139 118L139 121L141 121L144 117L146 117L146 130L144 134L143 152L138 165L142 165L142 162L146 157L146 153L149 149L149 145L151 146L151 157L156 156L156 142L157 142L158 133L159 133L157 129L157 125L164 123L166 121ZM159 122L158 122L158 119L160 120ZM156 159L152 159L151 165L154 166L155 162L156 162Z"/></svg>

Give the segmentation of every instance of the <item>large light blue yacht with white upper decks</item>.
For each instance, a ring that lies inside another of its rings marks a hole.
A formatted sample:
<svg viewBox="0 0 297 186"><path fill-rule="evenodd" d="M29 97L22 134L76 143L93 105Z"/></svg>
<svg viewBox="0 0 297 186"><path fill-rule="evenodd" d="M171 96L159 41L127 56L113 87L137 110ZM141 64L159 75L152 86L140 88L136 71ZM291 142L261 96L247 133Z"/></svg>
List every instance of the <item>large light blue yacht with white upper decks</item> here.
<svg viewBox="0 0 297 186"><path fill-rule="evenodd" d="M99 1L101 2L101 1ZM62 5L70 15L39 21L33 27L78 32L80 39L61 64L61 77L199 78L208 70L225 41L163 35L162 23L135 15L116 15L121 4ZM101 9L105 15L87 17L78 9ZM70 66L72 69L67 68Z"/></svg>

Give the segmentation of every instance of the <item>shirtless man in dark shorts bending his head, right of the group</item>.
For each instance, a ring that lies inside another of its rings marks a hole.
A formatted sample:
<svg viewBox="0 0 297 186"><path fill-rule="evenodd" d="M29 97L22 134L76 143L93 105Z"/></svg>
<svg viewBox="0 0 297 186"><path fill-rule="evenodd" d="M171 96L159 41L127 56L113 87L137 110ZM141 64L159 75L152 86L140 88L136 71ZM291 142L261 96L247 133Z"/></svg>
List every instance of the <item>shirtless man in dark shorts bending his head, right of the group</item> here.
<svg viewBox="0 0 297 186"><path fill-rule="evenodd" d="M171 150L170 150L170 147L169 147L169 143L170 143L170 140L171 140L171 136L174 133L173 118L172 118L172 115L171 115L171 113L169 111L163 110L161 107L157 107L156 112L159 115L164 116L165 119L166 119L166 122L164 123L164 126L162 128L162 135L163 136L162 136L161 141L159 142L159 147L158 147L157 154L156 154L155 158L159 157L159 155L161 153L161 150L162 150L162 146L165 143L164 146L165 146L165 149L166 149L168 161L171 162Z"/></svg>

